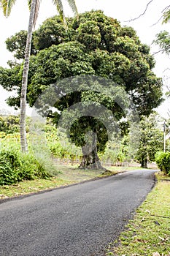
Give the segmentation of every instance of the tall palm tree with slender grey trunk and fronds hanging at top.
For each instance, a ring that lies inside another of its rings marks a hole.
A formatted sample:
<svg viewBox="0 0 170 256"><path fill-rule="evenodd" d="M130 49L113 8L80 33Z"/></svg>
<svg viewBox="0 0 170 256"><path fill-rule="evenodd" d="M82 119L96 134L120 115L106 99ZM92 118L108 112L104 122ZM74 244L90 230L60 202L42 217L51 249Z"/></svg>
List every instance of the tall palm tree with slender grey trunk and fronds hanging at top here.
<svg viewBox="0 0 170 256"><path fill-rule="evenodd" d="M16 0L0 0L1 8L5 17L8 17L12 6L15 4ZM31 54L31 39L34 26L39 13L39 6L41 0L28 0L28 7L30 8L30 16L28 23L28 34L26 39L26 52L23 64L23 79L20 94L20 146L23 152L28 151L27 140L26 140L26 91L28 83L28 69L29 69L29 59ZM62 0L52 0L53 4L57 7L59 15L66 24L65 15L63 12L63 1ZM67 0L69 6L72 8L74 14L77 14L77 7L74 0Z"/></svg>

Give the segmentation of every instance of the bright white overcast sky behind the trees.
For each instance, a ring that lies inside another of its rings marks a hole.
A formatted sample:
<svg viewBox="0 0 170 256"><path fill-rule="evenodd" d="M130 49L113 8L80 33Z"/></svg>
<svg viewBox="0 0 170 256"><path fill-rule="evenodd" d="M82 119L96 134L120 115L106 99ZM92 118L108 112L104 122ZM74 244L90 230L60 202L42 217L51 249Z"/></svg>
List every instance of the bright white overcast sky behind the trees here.
<svg viewBox="0 0 170 256"><path fill-rule="evenodd" d="M5 40L7 37L12 36L16 32L20 31L21 29L28 29L28 5L27 0L17 0L15 7L13 7L11 15L9 18L4 18L2 12L0 13L0 66L7 67L7 61L12 59L12 54L6 50ZM132 26L137 31L137 35L141 39L143 43L150 45L151 53L155 53L158 51L158 47L152 45L153 39L155 39L155 34L158 34L161 30L166 30L170 32L170 23L166 25L162 25L161 21L159 23L158 20L161 18L163 9L169 5L169 0L153 0L150 6L147 9L147 12L142 15L141 18L131 21L125 22L125 20L130 20L131 18L136 18L142 12L144 12L147 3L149 0L76 0L77 9L79 12L85 12L88 10L103 10L104 14L111 16L112 18L117 18L120 21L121 25ZM68 6L65 6L66 15L72 15ZM0 10L1 11L1 10ZM49 18L57 14L55 7L50 0L42 0L42 4L39 10L39 18L36 23L36 29L42 23L43 20ZM157 23L156 25L152 26L153 24ZM165 69L169 68L169 59L166 55L158 53L155 55L156 66L155 66L155 74L158 77L170 76L169 72L163 72ZM170 80L169 80L170 82ZM7 99L9 95L7 91L4 91L0 86L0 109L6 108L4 100ZM167 117L169 101L161 105L158 108L159 113L162 116Z"/></svg>

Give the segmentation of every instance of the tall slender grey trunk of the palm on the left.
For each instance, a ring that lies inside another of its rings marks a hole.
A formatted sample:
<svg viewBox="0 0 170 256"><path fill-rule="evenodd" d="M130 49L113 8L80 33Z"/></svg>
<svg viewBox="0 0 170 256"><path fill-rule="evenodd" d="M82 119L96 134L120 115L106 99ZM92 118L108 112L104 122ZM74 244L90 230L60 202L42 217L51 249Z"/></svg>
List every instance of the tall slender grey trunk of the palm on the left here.
<svg viewBox="0 0 170 256"><path fill-rule="evenodd" d="M23 65L23 80L20 94L20 146L23 152L27 151L27 141L26 141L26 91L28 83L28 69L29 69L29 59L31 53L31 39L32 31L34 27L34 18L36 10L36 1L31 1L31 11L28 24L28 34L26 40L26 53Z"/></svg>

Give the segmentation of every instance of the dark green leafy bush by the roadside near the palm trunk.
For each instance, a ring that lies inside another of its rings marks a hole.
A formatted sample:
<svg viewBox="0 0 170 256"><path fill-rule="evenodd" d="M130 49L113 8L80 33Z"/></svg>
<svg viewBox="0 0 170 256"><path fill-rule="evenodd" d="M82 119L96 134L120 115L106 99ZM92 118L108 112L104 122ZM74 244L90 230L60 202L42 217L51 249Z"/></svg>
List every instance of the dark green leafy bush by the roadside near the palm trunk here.
<svg viewBox="0 0 170 256"><path fill-rule="evenodd" d="M50 178L44 163L33 154L23 154L15 148L0 152L0 185L15 184L22 180Z"/></svg>

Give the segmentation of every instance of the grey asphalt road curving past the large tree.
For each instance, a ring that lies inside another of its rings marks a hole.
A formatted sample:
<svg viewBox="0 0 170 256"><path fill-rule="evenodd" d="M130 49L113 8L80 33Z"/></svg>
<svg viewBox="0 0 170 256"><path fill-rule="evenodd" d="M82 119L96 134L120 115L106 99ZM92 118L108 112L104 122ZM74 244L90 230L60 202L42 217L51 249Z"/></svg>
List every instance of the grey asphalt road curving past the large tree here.
<svg viewBox="0 0 170 256"><path fill-rule="evenodd" d="M1 256L104 255L154 184L136 170L0 204Z"/></svg>

